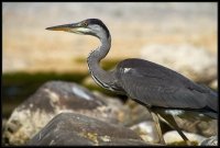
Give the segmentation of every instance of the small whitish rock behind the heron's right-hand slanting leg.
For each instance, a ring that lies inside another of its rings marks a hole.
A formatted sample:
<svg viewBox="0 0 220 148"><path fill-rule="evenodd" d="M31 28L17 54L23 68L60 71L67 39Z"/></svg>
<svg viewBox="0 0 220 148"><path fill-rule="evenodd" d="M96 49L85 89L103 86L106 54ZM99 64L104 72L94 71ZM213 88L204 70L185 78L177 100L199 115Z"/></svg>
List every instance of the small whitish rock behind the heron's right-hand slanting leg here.
<svg viewBox="0 0 220 148"><path fill-rule="evenodd" d="M186 137L190 140L190 141L194 141L196 143L197 145L199 143L201 143L202 140L206 139L206 137L204 136L200 136L198 134L194 134L194 133L187 133L187 132L183 132ZM167 145L172 145L172 144L175 144L175 143L180 143L183 141L183 138L182 136L176 132L176 130L170 130L170 132L167 132L165 133L164 135L164 140Z"/></svg>

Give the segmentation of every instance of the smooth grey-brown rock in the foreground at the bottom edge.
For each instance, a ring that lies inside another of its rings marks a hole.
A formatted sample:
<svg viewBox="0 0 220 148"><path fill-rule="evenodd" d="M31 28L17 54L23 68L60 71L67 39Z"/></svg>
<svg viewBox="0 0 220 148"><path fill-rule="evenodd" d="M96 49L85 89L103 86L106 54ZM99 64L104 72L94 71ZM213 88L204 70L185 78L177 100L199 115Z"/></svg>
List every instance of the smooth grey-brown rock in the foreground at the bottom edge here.
<svg viewBox="0 0 220 148"><path fill-rule="evenodd" d="M30 141L29 146L146 146L134 132L75 113L55 116Z"/></svg>

